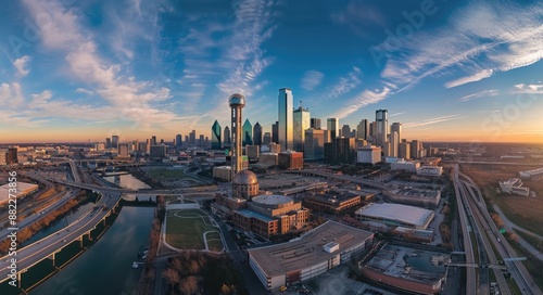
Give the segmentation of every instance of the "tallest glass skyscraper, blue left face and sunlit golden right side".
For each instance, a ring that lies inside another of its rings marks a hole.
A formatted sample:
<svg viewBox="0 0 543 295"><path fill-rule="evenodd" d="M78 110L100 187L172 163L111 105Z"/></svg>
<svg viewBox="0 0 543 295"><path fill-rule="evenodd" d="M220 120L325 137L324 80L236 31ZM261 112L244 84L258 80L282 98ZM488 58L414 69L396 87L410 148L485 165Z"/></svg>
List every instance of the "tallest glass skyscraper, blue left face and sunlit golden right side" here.
<svg viewBox="0 0 543 295"><path fill-rule="evenodd" d="M282 151L293 149L293 97L290 88L279 89L279 144Z"/></svg>

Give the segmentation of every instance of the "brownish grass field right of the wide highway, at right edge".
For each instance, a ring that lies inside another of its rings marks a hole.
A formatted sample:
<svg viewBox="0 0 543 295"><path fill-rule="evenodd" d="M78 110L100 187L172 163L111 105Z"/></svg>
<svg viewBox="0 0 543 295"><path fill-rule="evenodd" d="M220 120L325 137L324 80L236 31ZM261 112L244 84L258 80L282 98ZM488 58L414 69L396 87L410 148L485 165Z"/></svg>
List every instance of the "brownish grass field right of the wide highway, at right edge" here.
<svg viewBox="0 0 543 295"><path fill-rule="evenodd" d="M543 235L543 181L525 181L525 187L534 191L538 197L523 197L498 193L497 182L518 177L518 171L533 169L533 166L467 165L460 170L469 176L500 206L507 218L517 226Z"/></svg>

